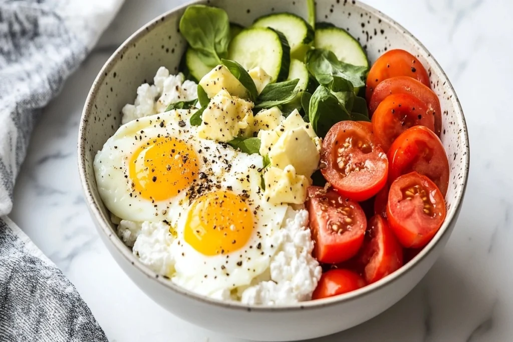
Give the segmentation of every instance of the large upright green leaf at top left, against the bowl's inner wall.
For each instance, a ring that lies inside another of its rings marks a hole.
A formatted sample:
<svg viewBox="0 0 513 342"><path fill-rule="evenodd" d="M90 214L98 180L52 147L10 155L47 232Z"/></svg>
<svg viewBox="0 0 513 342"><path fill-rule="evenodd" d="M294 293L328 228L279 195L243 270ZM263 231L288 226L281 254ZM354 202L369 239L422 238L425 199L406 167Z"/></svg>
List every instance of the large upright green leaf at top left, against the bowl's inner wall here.
<svg viewBox="0 0 513 342"><path fill-rule="evenodd" d="M230 21L228 14L220 8L188 6L180 18L180 32L208 66L220 64L219 56L227 54Z"/></svg>

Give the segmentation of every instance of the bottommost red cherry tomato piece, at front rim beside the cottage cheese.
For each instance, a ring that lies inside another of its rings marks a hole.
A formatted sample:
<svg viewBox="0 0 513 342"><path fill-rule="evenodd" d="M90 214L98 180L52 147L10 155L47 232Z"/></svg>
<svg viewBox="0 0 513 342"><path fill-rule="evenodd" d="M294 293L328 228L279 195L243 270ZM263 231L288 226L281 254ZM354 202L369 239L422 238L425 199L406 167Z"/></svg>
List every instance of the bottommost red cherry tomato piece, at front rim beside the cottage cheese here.
<svg viewBox="0 0 513 342"><path fill-rule="evenodd" d="M344 269L329 270L321 276L312 299L336 296L358 290L365 285L365 280L357 273Z"/></svg>

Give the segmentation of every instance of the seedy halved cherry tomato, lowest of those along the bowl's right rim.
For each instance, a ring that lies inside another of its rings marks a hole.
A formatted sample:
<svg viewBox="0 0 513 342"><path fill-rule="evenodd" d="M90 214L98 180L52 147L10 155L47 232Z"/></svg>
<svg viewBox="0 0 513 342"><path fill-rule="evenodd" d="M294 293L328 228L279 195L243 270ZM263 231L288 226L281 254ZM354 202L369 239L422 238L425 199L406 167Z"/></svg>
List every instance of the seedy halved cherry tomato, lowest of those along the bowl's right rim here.
<svg viewBox="0 0 513 342"><path fill-rule="evenodd" d="M388 224L406 248L424 247L445 219L445 201L435 183L417 172L400 176L390 186Z"/></svg>

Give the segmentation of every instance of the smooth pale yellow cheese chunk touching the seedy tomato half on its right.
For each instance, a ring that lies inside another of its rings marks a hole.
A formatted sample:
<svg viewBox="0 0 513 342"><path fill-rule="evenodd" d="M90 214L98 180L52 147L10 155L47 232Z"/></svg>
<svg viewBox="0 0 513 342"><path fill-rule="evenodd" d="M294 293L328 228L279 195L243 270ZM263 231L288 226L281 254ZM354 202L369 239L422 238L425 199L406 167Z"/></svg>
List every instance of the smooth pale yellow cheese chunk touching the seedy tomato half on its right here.
<svg viewBox="0 0 513 342"><path fill-rule="evenodd" d="M285 131L268 153L271 166L285 170L292 165L295 171L311 176L317 170L319 150L305 127Z"/></svg>

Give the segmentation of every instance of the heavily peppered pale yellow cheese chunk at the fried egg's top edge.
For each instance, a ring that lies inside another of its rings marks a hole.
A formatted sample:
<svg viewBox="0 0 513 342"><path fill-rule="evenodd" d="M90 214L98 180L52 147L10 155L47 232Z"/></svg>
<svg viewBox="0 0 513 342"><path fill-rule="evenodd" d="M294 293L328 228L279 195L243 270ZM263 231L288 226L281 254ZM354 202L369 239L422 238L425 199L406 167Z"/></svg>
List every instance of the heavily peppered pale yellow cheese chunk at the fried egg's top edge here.
<svg viewBox="0 0 513 342"><path fill-rule="evenodd" d="M222 89L203 112L198 135L225 143L237 136L249 136L253 127L252 108L252 103Z"/></svg>

